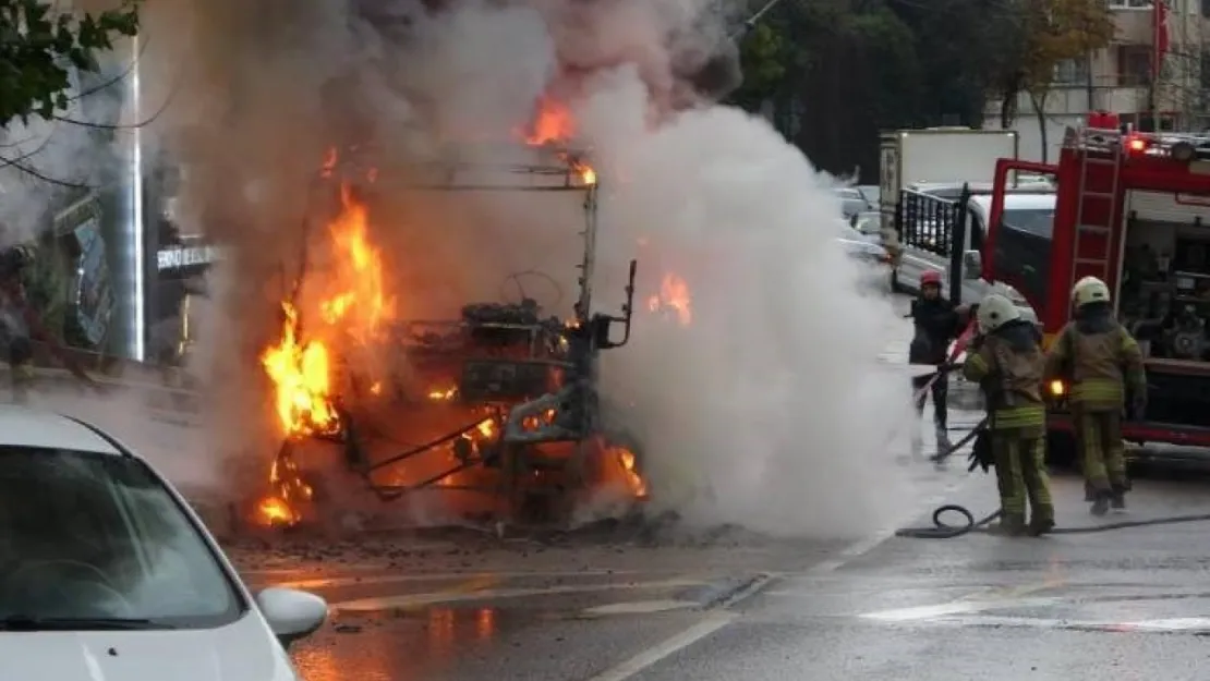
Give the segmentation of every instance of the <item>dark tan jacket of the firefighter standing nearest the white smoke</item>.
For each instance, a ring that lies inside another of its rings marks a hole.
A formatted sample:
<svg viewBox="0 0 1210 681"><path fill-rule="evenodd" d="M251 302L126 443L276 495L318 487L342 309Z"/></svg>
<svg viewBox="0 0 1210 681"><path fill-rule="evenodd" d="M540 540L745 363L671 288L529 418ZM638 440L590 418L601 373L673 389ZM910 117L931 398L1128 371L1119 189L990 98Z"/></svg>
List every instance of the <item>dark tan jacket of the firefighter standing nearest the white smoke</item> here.
<svg viewBox="0 0 1210 681"><path fill-rule="evenodd" d="M962 375L975 381L987 400L992 431L1045 429L1042 402L1045 357L1033 324L1009 322L967 350Z"/></svg>

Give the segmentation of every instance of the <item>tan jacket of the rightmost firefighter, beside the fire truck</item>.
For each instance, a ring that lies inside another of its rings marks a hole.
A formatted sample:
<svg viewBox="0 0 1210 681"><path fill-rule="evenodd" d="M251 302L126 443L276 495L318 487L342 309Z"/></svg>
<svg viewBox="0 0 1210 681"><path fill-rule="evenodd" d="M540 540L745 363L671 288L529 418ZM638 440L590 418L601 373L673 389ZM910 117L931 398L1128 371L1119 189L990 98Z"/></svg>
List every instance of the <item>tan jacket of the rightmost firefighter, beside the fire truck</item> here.
<svg viewBox="0 0 1210 681"><path fill-rule="evenodd" d="M1127 393L1147 394L1139 344L1108 306L1090 306L1064 327L1047 356L1047 376L1071 385L1070 399L1088 411L1120 411Z"/></svg>

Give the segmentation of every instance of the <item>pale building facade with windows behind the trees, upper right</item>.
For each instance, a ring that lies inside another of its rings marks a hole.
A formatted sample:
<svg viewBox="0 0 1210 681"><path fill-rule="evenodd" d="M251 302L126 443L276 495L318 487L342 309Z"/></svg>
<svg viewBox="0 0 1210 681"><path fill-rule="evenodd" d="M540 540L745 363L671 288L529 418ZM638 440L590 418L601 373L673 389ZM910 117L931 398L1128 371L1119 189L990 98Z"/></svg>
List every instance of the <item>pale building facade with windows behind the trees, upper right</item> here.
<svg viewBox="0 0 1210 681"><path fill-rule="evenodd" d="M1107 0L1117 35L1108 47L1055 68L1044 98L1045 144L1033 102L1020 93L1013 127L1020 133L1021 157L1053 161L1064 131L1096 110L1146 127L1154 104L1159 129L1210 128L1210 0L1163 1L1157 8L1152 0ZM1166 44L1158 80L1157 40ZM1001 104L987 103L989 127L999 123Z"/></svg>

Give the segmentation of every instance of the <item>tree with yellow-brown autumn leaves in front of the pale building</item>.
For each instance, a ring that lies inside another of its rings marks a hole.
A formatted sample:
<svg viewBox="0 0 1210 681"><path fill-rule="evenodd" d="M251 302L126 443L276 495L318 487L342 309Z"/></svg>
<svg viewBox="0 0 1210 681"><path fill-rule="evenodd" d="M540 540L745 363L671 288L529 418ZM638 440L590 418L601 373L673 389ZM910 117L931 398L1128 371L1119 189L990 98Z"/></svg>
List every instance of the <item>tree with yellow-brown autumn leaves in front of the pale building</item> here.
<svg viewBox="0 0 1210 681"><path fill-rule="evenodd" d="M1015 82L1006 88L1004 96L1015 102L1020 92L1028 93L1038 119L1042 161L1045 162L1047 97L1055 67L1070 59L1087 59L1089 53L1106 47L1117 29L1105 0L1022 0L1021 10L1021 59Z"/></svg>

